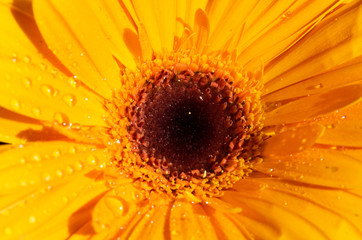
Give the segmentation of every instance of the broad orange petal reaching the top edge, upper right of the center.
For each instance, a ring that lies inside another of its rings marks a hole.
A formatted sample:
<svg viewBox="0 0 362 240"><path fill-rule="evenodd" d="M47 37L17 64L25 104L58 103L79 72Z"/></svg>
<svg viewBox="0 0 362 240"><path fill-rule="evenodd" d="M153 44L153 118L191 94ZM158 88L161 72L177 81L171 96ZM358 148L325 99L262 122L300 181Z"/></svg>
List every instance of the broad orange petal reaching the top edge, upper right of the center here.
<svg viewBox="0 0 362 240"><path fill-rule="evenodd" d="M306 33L341 1L259 1L246 20L239 62L253 71L253 59L268 63Z"/></svg>

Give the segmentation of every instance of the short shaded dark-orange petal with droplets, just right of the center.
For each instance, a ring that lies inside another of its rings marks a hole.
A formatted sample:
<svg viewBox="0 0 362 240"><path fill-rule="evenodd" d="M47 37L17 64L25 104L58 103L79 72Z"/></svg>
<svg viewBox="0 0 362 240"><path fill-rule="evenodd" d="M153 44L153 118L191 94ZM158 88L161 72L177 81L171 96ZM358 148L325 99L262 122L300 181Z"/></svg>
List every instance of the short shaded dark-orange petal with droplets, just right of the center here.
<svg viewBox="0 0 362 240"><path fill-rule="evenodd" d="M308 150L323 134L324 129L323 125L311 124L278 133L265 142L262 155L264 157L286 156Z"/></svg>

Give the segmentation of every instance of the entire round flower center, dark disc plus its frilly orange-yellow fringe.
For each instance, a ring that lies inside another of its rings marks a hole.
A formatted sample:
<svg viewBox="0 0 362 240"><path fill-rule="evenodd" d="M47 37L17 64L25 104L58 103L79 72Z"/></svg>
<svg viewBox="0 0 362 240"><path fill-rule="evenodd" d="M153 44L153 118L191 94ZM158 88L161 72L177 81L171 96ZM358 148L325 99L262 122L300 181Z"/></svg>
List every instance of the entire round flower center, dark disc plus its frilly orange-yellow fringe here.
<svg viewBox="0 0 362 240"><path fill-rule="evenodd" d="M114 166L173 197L221 195L260 156L259 75L188 54L156 56L140 73L124 73L108 105Z"/></svg>

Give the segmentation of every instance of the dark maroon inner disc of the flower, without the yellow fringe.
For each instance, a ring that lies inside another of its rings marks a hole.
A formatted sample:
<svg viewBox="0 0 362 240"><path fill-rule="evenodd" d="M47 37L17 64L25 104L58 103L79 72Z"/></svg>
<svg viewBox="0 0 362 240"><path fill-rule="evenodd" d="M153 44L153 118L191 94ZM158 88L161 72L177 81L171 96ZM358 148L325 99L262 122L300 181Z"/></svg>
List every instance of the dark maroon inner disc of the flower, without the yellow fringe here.
<svg viewBox="0 0 362 240"><path fill-rule="evenodd" d="M143 160L185 179L233 165L230 155L237 155L235 145L240 149L245 138L245 119L227 81L170 70L149 81L129 108L131 141Z"/></svg>

